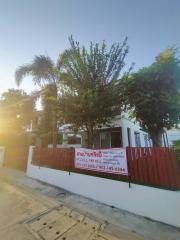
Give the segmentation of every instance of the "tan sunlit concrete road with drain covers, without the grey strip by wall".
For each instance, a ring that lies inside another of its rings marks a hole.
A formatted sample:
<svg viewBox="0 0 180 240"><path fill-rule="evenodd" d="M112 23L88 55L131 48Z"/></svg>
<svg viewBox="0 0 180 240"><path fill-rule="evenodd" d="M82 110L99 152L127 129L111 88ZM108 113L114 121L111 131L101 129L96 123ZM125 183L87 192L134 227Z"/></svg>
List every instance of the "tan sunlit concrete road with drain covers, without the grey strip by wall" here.
<svg viewBox="0 0 180 240"><path fill-rule="evenodd" d="M2 170L1 170L2 174ZM47 186L48 188L48 186ZM36 189L37 190L37 189ZM120 229L7 179L0 181L0 239L3 240L142 240Z"/></svg>

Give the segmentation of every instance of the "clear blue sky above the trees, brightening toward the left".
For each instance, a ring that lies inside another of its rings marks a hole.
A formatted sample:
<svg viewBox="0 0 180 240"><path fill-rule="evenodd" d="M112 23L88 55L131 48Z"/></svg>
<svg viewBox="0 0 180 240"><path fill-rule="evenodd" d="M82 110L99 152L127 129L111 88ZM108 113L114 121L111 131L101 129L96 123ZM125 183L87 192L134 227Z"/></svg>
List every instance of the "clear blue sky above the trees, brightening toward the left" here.
<svg viewBox="0 0 180 240"><path fill-rule="evenodd" d="M35 55L55 62L69 47L128 37L127 66L150 65L165 48L180 47L180 0L0 0L0 93L16 88L15 70ZM37 89L30 77L21 85Z"/></svg>

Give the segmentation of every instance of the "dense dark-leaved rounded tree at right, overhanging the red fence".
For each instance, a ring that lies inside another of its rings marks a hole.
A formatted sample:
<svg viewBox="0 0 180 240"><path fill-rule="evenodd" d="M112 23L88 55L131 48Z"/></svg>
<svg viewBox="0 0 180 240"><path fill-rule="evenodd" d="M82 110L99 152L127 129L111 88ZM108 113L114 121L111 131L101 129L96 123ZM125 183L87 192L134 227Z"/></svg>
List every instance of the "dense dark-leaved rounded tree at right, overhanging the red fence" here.
<svg viewBox="0 0 180 240"><path fill-rule="evenodd" d="M131 116L140 122L153 141L162 146L164 128L180 121L180 60L168 48L155 62L123 81L122 98Z"/></svg>

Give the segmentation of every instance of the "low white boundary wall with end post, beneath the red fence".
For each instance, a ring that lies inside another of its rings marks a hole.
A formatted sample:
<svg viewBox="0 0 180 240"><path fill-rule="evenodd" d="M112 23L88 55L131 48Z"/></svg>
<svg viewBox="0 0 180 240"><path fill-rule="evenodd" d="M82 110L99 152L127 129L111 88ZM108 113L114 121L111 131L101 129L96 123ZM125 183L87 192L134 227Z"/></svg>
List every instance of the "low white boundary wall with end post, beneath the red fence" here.
<svg viewBox="0 0 180 240"><path fill-rule="evenodd" d="M113 205L117 208L180 227L180 191L141 186L69 173L31 164L33 147L29 149L27 176L64 188L70 192Z"/></svg>

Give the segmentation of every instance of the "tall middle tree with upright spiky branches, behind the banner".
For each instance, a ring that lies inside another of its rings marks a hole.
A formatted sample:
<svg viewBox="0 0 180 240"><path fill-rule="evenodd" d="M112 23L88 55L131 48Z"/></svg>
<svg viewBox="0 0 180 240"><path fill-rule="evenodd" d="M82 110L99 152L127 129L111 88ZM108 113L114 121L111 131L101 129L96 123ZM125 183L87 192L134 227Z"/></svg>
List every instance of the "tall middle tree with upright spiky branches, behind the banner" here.
<svg viewBox="0 0 180 240"><path fill-rule="evenodd" d="M65 122L74 129L84 129L87 145L92 147L96 129L121 112L118 79L128 53L127 39L109 50L105 42L91 43L87 50L72 37L69 40L70 48L59 58L63 84L60 107Z"/></svg>

